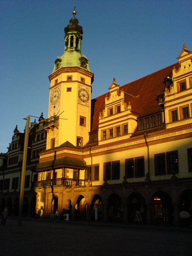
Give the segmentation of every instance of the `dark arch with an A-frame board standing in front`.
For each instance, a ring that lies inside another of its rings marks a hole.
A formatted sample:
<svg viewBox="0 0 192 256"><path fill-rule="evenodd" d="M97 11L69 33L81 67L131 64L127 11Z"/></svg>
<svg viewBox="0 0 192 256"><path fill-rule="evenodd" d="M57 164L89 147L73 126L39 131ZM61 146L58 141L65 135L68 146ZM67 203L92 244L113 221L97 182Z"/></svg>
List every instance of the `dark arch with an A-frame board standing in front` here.
<svg viewBox="0 0 192 256"><path fill-rule="evenodd" d="M139 193L132 193L127 199L127 218L129 223L135 221L146 221L146 204L145 199ZM141 219L139 218L141 216ZM139 220L138 220L139 218Z"/></svg>

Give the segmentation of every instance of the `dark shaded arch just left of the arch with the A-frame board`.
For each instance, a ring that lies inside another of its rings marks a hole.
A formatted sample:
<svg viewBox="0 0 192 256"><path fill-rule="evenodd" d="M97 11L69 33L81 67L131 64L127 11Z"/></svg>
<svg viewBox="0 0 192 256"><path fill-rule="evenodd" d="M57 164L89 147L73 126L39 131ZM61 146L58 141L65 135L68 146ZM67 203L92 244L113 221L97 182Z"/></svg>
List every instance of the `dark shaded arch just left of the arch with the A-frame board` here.
<svg viewBox="0 0 192 256"><path fill-rule="evenodd" d="M108 220L109 221L122 221L123 220L123 207L119 195L112 194L108 199Z"/></svg>

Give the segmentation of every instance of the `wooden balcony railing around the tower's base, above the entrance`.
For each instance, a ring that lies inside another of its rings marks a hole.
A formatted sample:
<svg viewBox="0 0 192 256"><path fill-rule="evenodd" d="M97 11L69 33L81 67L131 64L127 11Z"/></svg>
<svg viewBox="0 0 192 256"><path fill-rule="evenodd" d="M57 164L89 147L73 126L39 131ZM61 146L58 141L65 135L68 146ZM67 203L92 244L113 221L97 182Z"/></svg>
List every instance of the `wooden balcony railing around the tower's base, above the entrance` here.
<svg viewBox="0 0 192 256"><path fill-rule="evenodd" d="M38 180L32 182L33 188L45 188L45 187L59 187L59 186L72 186L73 181L76 182L76 186L85 186L85 180L80 179L69 179L69 178L58 178L51 180Z"/></svg>

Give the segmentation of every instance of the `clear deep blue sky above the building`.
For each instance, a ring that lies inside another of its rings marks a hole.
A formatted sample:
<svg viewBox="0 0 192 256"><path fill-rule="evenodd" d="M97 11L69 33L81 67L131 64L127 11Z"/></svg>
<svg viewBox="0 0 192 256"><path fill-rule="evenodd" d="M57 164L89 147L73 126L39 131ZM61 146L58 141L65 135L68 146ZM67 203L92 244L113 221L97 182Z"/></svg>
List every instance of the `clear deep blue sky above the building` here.
<svg viewBox="0 0 192 256"><path fill-rule="evenodd" d="M192 51L191 1L1 0L0 152L16 124L23 132L24 117L48 115L48 76L64 53L74 4L92 98L108 92L114 77L124 85L174 64L184 43Z"/></svg>

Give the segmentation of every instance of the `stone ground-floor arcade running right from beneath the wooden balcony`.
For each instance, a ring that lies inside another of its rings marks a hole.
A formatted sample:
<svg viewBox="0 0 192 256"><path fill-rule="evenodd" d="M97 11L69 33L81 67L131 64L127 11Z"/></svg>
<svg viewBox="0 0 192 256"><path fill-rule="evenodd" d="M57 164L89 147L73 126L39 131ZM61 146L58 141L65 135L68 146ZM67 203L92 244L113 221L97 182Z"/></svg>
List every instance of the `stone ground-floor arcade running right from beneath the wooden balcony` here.
<svg viewBox="0 0 192 256"><path fill-rule="evenodd" d="M58 190L58 188L55 188ZM50 191L51 192L51 191ZM134 223L168 223L178 225L179 213L191 212L192 189L186 189L172 196L163 190L156 190L148 196L146 190L126 193L108 190L107 188L78 188L65 189L59 192L44 193L43 216L55 213L58 209L62 218L63 211L67 211L70 220L100 220L122 221ZM37 199L38 200L38 199ZM139 215L139 218L138 216Z"/></svg>

